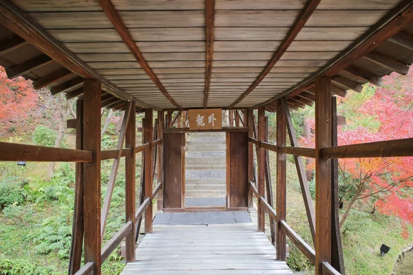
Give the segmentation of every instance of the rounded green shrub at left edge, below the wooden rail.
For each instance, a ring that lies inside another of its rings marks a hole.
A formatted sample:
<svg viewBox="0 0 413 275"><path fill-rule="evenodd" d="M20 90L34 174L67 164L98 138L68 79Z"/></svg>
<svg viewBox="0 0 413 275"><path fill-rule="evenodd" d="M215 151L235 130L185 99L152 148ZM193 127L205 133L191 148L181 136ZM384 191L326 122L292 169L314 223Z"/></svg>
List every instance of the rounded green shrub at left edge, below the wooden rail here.
<svg viewBox="0 0 413 275"><path fill-rule="evenodd" d="M19 205L24 202L21 179L6 177L0 181L0 209L12 204Z"/></svg>

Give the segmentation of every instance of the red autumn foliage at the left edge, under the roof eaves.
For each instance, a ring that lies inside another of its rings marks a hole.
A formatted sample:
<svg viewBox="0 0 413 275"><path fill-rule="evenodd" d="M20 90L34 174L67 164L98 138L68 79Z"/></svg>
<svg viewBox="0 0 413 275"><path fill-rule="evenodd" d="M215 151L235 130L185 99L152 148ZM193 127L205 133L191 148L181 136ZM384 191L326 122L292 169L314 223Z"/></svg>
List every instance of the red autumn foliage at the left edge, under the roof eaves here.
<svg viewBox="0 0 413 275"><path fill-rule="evenodd" d="M10 80L3 67L0 67L0 122L2 128L28 117L34 107L38 95L32 82L22 77Z"/></svg>

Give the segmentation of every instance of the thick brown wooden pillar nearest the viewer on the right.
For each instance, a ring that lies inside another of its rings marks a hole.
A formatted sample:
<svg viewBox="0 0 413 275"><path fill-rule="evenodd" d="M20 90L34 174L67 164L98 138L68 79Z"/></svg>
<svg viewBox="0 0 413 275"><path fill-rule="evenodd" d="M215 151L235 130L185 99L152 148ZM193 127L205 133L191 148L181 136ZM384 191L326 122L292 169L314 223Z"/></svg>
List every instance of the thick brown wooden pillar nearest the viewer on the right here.
<svg viewBox="0 0 413 275"><path fill-rule="evenodd" d="M315 274L321 263L331 263L331 160L321 159L321 148L332 143L331 78L315 79Z"/></svg>

